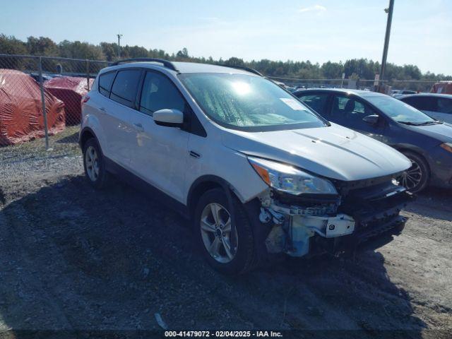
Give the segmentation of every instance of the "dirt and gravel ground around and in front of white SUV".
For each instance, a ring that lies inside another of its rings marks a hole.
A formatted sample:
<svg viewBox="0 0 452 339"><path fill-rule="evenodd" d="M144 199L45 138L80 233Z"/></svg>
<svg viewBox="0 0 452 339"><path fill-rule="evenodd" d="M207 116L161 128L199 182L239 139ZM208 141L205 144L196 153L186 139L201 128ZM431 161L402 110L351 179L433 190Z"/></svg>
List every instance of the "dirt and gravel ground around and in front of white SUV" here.
<svg viewBox="0 0 452 339"><path fill-rule="evenodd" d="M176 330L451 338L451 191L420 195L377 251L230 278L203 262L177 213L117 180L91 189L81 157L27 164L0 165L0 334L153 338L160 314Z"/></svg>

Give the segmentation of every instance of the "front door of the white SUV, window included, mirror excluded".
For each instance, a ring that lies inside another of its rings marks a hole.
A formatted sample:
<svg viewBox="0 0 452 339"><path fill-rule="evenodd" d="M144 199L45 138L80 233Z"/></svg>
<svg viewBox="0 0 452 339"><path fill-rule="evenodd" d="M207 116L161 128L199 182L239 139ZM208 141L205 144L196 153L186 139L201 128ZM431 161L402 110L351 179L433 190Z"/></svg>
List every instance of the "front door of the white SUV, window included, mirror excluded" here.
<svg viewBox="0 0 452 339"><path fill-rule="evenodd" d="M164 74L148 70L143 75L138 107L131 115L133 148L131 167L138 177L178 201L184 201L189 132L155 124L153 112L179 109L184 119L190 107L176 85Z"/></svg>

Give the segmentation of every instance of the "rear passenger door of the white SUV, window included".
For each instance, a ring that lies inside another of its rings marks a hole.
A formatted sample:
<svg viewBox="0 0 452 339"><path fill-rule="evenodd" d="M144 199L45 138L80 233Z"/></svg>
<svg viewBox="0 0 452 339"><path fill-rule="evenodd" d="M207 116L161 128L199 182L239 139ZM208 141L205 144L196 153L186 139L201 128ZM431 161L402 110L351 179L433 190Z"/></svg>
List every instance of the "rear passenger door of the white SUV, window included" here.
<svg viewBox="0 0 452 339"><path fill-rule="evenodd" d="M140 69L124 69L117 72L103 107L102 125L105 127L109 159L130 169L130 150L133 147L134 131L130 123L136 105L136 91L141 77ZM101 90L101 88L100 88Z"/></svg>

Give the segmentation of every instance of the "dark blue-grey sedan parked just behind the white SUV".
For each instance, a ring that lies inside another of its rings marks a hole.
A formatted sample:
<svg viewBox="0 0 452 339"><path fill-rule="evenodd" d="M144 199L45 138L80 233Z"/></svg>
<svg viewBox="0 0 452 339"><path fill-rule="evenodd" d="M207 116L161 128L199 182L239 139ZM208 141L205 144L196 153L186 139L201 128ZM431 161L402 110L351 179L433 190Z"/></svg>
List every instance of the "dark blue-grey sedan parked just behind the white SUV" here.
<svg viewBox="0 0 452 339"><path fill-rule="evenodd" d="M452 126L405 102L364 90L302 90L294 95L328 121L400 150L412 166L398 178L410 191L452 187Z"/></svg>

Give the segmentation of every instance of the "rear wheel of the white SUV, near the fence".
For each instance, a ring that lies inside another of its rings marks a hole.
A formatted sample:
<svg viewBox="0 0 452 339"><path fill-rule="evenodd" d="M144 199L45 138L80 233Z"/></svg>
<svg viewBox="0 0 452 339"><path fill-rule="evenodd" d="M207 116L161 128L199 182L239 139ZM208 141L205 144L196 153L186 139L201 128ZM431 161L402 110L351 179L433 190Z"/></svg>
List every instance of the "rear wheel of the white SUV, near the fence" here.
<svg viewBox="0 0 452 339"><path fill-rule="evenodd" d="M83 168L85 177L95 189L102 189L107 183L105 159L95 138L90 138L83 145Z"/></svg>

